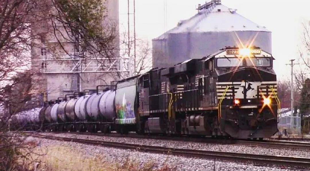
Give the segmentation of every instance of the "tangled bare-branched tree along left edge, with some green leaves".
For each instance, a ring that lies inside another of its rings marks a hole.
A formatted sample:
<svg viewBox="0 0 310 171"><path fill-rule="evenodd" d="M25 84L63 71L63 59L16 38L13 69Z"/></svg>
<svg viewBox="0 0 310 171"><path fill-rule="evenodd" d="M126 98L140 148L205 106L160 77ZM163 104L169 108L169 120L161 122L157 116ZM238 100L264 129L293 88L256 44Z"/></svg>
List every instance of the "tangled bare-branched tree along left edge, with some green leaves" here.
<svg viewBox="0 0 310 171"><path fill-rule="evenodd" d="M117 32L113 24L103 27L105 10L104 2L97 0L0 1L0 170L27 170L35 161L35 144L8 133L9 120L38 95L32 80L38 72L31 67L37 57L33 50L42 47L42 40L55 38L64 53L69 54L64 44L70 42L78 58L109 59L118 50L113 44Z"/></svg>

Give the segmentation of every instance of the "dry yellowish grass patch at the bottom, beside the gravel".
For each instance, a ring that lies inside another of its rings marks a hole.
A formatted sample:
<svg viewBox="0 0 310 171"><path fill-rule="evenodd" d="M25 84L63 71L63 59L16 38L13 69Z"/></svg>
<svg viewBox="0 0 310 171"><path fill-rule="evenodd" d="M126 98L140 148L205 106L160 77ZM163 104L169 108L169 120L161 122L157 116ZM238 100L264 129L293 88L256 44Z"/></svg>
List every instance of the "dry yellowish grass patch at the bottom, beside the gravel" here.
<svg viewBox="0 0 310 171"><path fill-rule="evenodd" d="M44 153L44 156L33 156L41 160L41 163L37 165L37 169L30 168L31 170L40 171L152 171L156 165L152 162L148 162L143 166L139 162L127 158L123 164L110 163L106 161L103 156L87 157L71 146L49 146L46 149L38 147L38 153ZM164 165L160 171L170 171L168 165Z"/></svg>

